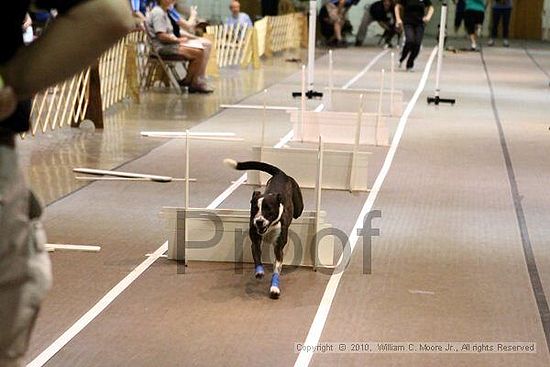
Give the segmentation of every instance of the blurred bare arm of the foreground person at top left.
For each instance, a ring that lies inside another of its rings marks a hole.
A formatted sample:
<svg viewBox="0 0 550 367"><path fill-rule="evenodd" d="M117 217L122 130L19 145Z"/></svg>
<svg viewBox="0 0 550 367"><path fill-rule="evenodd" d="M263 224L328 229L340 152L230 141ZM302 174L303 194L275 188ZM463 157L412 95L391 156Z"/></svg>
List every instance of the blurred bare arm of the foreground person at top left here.
<svg viewBox="0 0 550 367"><path fill-rule="evenodd" d="M132 29L128 0L88 0L60 14L35 42L0 65L19 100L92 64Z"/></svg>

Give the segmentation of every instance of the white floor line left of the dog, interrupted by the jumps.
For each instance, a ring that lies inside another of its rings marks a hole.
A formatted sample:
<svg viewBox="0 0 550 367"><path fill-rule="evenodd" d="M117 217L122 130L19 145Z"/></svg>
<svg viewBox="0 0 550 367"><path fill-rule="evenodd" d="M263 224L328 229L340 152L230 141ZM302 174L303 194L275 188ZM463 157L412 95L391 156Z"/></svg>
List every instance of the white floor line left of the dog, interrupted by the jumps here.
<svg viewBox="0 0 550 367"><path fill-rule="evenodd" d="M381 54L382 55L382 54ZM381 55L377 57L381 57ZM372 61L370 64L373 64ZM370 65L369 64L369 65ZM363 69L365 70L365 69ZM361 75L364 71L361 71ZM357 80L356 78L354 78ZM353 79L352 79L353 80ZM355 82L354 80L354 82ZM353 84L348 82L349 85ZM323 106L322 104L319 107ZM318 108L319 108L318 107ZM316 109L317 110L317 109ZM322 107L321 107L322 110ZM405 111L406 112L406 111ZM405 114L404 114L405 115ZM294 132L289 131L274 147L281 148L287 144L294 136ZM395 139L394 139L395 140ZM391 150L391 148L390 148ZM388 153L389 154L389 153ZM246 181L246 174L242 175L235 183L222 192L210 205L208 209L214 209L219 206L229 195L233 193L240 185ZM376 182L375 182L376 185ZM27 367L42 367L54 355L56 355L67 343L69 343L78 333L80 333L88 324L90 324L101 312L103 312L122 292L126 290L141 274L143 274L157 259L168 251L168 241L164 242L154 253L139 264L130 274L114 286L98 303L96 303L88 312L78 319L69 329L67 329L59 338L57 338L48 348L33 359ZM330 307L330 305L329 305ZM301 354L300 354L301 355ZM311 358L311 357L310 357Z"/></svg>

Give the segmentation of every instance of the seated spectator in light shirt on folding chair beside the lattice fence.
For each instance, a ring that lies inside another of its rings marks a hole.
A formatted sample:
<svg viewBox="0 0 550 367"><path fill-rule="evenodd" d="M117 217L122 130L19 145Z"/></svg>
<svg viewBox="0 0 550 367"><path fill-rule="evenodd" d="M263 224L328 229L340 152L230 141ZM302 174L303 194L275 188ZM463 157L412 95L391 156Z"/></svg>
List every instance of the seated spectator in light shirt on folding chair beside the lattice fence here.
<svg viewBox="0 0 550 367"><path fill-rule="evenodd" d="M213 90L206 85L204 79L208 63L204 48L190 44L187 37L177 37L174 34L168 16L168 10L174 2L175 0L159 0L158 5L149 13L147 31L153 40L153 47L161 56L180 56L182 60L189 61L187 75L179 81L180 85L189 87L189 93L211 93Z"/></svg>

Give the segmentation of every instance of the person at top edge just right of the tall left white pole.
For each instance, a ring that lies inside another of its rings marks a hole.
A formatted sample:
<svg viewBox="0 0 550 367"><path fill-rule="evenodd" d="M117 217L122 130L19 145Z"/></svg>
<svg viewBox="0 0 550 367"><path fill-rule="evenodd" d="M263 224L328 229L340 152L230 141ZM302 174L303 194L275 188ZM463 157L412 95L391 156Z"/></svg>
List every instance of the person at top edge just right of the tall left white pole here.
<svg viewBox="0 0 550 367"><path fill-rule="evenodd" d="M321 34L327 43L336 47L346 47L343 37L347 14L352 5L357 5L359 0L329 0L321 7L319 18Z"/></svg>

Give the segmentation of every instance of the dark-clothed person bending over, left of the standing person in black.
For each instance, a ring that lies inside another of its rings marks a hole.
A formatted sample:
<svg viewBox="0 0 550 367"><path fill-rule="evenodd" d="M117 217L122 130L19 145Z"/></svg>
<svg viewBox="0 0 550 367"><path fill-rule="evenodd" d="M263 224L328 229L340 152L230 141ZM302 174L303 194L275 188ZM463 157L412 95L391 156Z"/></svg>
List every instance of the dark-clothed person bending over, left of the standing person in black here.
<svg viewBox="0 0 550 367"><path fill-rule="evenodd" d="M363 14L359 30L357 31L355 46L361 46L363 44L369 25L372 22L378 22L378 25L384 30L382 38L386 46L393 47L391 40L393 36L397 34L393 16L394 7L394 0L379 0L371 5L365 6L365 13Z"/></svg>

